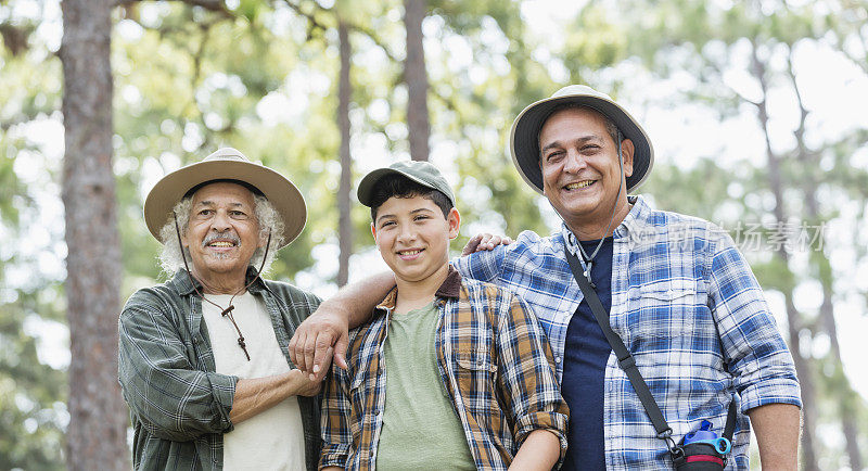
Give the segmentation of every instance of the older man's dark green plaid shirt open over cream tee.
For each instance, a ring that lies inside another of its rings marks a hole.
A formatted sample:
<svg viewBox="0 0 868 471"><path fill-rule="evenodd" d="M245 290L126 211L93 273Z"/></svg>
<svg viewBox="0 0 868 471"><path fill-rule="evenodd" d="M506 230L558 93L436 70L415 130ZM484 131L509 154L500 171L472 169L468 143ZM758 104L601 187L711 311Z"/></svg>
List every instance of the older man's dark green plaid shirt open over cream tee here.
<svg viewBox="0 0 868 471"><path fill-rule="evenodd" d="M247 270L247 282L256 270ZM199 285L200 290L202 289ZM276 281L248 291L265 302L286 362L289 343L320 300ZM238 378L215 372L202 298L179 270L165 284L130 296L118 320L118 380L129 405L136 469L219 470L224 433ZM255 360L255 359L254 359ZM298 396L305 460L316 469L320 450L319 398Z"/></svg>

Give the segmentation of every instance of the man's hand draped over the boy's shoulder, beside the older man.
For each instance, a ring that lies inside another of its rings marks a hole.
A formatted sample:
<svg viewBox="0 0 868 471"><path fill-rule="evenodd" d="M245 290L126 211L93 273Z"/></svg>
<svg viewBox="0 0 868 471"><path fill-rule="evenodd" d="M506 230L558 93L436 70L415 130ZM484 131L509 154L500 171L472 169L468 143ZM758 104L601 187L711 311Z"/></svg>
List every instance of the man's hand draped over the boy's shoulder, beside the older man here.
<svg viewBox="0 0 868 471"><path fill-rule="evenodd" d="M346 369L349 345L348 316L335 314L333 303L323 302L297 329L290 340L290 359L310 381L319 383L331 367L332 356Z"/></svg>

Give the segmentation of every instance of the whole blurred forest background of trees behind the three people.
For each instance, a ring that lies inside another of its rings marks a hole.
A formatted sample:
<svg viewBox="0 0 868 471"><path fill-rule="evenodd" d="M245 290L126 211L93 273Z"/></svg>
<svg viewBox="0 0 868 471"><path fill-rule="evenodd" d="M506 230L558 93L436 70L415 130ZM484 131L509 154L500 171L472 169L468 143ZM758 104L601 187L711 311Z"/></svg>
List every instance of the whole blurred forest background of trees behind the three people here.
<svg viewBox="0 0 868 471"><path fill-rule="evenodd" d="M456 251L554 229L507 140L567 84L644 123L653 205L751 260L802 381L802 468L868 466L864 0L0 0L0 469L129 468L116 319L165 279L159 177L221 145L290 176L309 220L270 277L324 296L380 266L350 195L398 158L458 189Z"/></svg>

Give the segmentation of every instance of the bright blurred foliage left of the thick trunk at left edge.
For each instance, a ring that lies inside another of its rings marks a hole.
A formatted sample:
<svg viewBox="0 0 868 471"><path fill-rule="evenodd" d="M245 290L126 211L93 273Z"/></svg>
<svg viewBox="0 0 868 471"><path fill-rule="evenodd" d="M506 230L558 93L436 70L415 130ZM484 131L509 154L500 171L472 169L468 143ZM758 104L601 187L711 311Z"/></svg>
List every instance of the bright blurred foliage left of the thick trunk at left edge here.
<svg viewBox="0 0 868 471"><path fill-rule="evenodd" d="M40 358L39 327L56 326L63 311L59 280L17 250L37 207L18 171L31 171L41 151L27 127L56 118L60 61L36 33L40 21L13 5L0 4L0 469L53 470L63 469L65 373Z"/></svg>

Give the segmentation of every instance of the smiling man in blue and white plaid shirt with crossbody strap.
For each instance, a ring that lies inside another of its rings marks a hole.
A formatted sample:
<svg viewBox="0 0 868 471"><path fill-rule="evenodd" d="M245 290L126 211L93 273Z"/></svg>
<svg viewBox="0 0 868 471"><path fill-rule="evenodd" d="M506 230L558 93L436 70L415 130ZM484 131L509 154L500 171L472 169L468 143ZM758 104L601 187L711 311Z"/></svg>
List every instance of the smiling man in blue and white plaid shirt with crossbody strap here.
<svg viewBox="0 0 868 471"><path fill-rule="evenodd" d="M732 449L717 466L748 468L752 423L763 466L794 470L799 382L763 290L726 232L627 196L654 160L639 123L609 96L570 86L519 114L510 149L519 173L563 225L550 237L525 231L515 243L452 264L464 277L515 291L546 330L572 411L564 469L672 469L669 447L703 420L723 435L732 403ZM480 242L474 238L465 252L486 245ZM665 441L621 369L567 253L672 429ZM378 290L387 281L372 277L345 293L355 290L362 305L366 295L382 297ZM302 340L292 343L307 352L316 342L317 354L299 368L322 362L322 346L340 340L334 332L343 335L355 316L318 311L305 322Z"/></svg>

